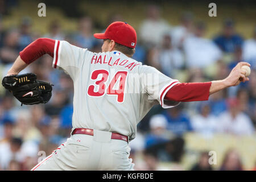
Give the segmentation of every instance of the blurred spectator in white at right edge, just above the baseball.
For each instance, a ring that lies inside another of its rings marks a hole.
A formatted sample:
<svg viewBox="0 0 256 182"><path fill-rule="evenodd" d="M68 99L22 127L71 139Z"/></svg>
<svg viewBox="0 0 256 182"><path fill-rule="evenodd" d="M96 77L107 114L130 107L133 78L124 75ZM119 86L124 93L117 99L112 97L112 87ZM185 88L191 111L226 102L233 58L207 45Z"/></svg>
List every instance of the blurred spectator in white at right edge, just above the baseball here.
<svg viewBox="0 0 256 182"><path fill-rule="evenodd" d="M253 38L245 40L242 47L243 60L251 64L251 68L256 69L256 27L254 28Z"/></svg>

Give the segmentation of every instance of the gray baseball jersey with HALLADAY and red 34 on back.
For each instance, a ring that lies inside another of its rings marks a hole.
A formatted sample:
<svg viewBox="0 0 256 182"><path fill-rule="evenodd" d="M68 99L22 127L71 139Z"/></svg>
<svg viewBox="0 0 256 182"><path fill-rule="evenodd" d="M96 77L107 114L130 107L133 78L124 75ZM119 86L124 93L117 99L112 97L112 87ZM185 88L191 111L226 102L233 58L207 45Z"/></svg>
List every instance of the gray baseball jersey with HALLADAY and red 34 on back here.
<svg viewBox="0 0 256 182"><path fill-rule="evenodd" d="M152 106L179 104L164 100L178 80L119 51L95 53L55 40L52 66L73 80L73 129L110 131L131 140Z"/></svg>

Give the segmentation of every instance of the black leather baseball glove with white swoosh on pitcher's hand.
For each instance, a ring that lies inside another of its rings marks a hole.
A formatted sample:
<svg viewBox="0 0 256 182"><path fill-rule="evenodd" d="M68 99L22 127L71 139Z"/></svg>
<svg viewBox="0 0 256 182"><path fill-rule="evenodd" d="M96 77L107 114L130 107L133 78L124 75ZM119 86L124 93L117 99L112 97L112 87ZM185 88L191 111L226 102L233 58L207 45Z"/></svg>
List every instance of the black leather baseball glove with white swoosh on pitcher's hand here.
<svg viewBox="0 0 256 182"><path fill-rule="evenodd" d="M52 84L36 80L34 73L6 76L2 85L26 105L47 103L52 96Z"/></svg>

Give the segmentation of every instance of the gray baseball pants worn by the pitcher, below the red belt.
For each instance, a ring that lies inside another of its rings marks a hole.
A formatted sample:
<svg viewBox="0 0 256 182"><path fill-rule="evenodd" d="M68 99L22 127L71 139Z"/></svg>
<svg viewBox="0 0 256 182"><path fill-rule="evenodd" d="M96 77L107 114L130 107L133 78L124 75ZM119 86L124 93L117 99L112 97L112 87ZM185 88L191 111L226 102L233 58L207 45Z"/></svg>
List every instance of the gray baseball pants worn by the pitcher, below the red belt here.
<svg viewBox="0 0 256 182"><path fill-rule="evenodd" d="M94 135L75 134L31 171L54 170L134 170L130 147L124 140L111 139L110 132L94 130Z"/></svg>

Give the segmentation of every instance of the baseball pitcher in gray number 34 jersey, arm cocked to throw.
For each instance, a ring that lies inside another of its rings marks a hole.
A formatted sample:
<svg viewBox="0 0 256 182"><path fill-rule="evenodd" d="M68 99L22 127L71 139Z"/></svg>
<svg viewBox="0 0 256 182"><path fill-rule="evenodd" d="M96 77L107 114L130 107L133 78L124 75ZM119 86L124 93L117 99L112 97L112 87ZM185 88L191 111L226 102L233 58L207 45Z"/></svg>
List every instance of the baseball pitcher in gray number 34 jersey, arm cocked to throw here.
<svg viewBox="0 0 256 182"><path fill-rule="evenodd" d="M37 39L19 53L3 78L2 85L23 104L48 102L51 84L36 80L32 73L18 75L48 53L52 67L63 69L73 80L71 137L32 170L133 170L129 141L152 106L208 100L214 92L249 81L241 69L250 66L245 62L218 81L180 83L163 75L131 58L137 35L125 22L114 22L94 37L103 40L100 53L62 40Z"/></svg>

